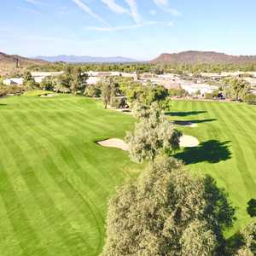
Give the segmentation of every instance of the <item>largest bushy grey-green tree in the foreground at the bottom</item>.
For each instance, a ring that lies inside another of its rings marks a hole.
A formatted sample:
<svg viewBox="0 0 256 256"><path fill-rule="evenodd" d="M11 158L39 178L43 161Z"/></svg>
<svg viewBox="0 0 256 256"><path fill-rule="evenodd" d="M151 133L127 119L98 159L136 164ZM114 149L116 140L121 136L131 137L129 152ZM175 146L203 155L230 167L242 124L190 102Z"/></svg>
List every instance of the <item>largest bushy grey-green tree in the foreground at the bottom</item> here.
<svg viewBox="0 0 256 256"><path fill-rule="evenodd" d="M232 223L234 209L223 206L227 199L210 180L183 171L173 158L158 156L109 201L102 256L223 255L218 247L223 236L215 230L221 230L223 218ZM216 201L212 186L219 192Z"/></svg>

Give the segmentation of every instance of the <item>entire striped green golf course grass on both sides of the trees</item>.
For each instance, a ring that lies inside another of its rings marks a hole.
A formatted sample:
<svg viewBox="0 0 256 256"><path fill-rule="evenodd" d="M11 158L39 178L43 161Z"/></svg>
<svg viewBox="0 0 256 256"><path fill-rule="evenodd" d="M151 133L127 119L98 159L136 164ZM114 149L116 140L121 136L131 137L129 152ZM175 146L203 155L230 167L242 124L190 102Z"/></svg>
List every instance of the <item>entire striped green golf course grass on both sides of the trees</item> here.
<svg viewBox="0 0 256 256"><path fill-rule="evenodd" d="M226 236L247 224L247 201L256 198L255 108L172 101L166 113L200 142L174 156L189 172L214 177L236 207L236 223ZM131 115L83 96L1 99L1 256L99 255L108 199L143 165L96 142L123 139L133 124Z"/></svg>

